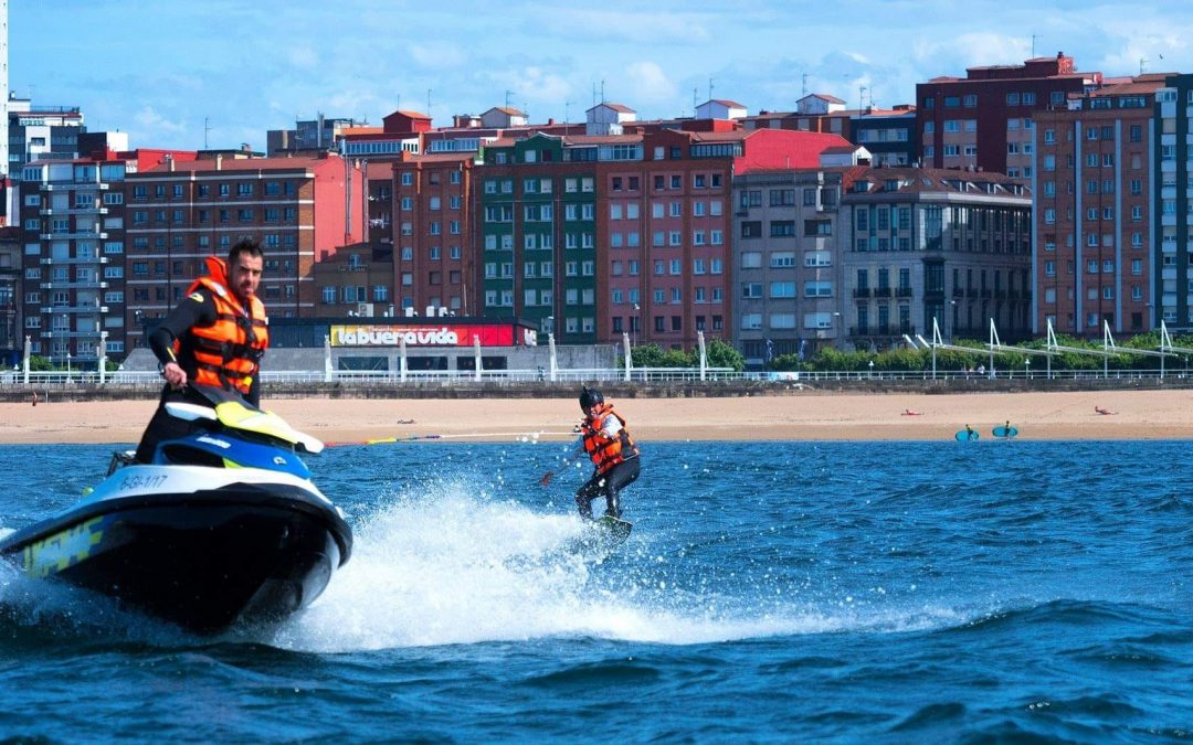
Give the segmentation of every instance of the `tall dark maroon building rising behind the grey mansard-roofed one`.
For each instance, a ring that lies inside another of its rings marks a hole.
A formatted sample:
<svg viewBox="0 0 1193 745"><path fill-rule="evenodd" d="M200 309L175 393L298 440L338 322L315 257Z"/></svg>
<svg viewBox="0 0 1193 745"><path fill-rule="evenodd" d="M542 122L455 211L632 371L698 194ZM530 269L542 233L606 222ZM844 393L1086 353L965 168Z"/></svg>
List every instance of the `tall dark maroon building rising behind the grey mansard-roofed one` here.
<svg viewBox="0 0 1193 745"><path fill-rule="evenodd" d="M1037 112L1063 108L1101 85L1101 73L1078 73L1073 57L972 67L965 77L933 77L915 86L920 163L1032 178Z"/></svg>

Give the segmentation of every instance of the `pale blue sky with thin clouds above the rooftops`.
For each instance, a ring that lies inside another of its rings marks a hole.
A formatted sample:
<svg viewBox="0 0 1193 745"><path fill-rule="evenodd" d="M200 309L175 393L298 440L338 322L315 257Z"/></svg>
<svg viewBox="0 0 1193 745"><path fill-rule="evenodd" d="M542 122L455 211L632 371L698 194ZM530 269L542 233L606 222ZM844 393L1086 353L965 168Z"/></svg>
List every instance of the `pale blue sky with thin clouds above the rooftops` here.
<svg viewBox="0 0 1193 745"><path fill-rule="evenodd" d="M1193 72L1187 0L7 0L8 87L134 148L265 149L296 119L435 126L506 104L582 122L731 99L914 104L915 83L1063 51L1107 76ZM601 95L604 91L604 97Z"/></svg>

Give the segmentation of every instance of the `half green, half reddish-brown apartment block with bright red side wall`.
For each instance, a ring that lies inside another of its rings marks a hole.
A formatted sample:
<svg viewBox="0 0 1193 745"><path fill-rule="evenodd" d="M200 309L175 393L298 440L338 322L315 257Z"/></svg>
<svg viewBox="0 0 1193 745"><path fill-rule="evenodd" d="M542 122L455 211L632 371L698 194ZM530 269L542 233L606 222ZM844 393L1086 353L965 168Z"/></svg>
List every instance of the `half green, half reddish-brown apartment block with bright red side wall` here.
<svg viewBox="0 0 1193 745"><path fill-rule="evenodd" d="M811 166L843 139L685 131L500 141L484 151L482 308L564 343L729 337L731 178Z"/></svg>

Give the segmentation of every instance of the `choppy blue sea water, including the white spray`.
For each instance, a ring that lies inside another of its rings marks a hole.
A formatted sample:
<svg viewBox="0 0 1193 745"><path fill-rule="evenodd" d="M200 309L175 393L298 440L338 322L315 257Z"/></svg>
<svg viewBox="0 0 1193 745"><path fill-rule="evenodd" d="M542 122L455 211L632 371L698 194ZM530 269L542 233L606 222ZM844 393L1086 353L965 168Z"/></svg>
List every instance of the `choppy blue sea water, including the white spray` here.
<svg viewBox="0 0 1193 745"><path fill-rule="evenodd" d="M1187 442L647 442L607 554L524 440L308 459L351 563L197 639L0 567L0 737L729 741L1193 735ZM110 448L0 448L0 526ZM600 503L596 504L600 508Z"/></svg>

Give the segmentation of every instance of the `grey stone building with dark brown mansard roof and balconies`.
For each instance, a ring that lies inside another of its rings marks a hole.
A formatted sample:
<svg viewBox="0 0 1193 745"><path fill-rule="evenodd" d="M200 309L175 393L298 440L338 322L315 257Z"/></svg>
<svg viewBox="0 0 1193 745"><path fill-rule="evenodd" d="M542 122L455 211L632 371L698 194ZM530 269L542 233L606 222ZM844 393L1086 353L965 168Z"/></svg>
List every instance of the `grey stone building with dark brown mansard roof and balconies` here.
<svg viewBox="0 0 1193 745"><path fill-rule="evenodd" d="M1002 174L870 168L841 197L847 341L882 350L903 335L1001 339L1031 331L1027 187Z"/></svg>

